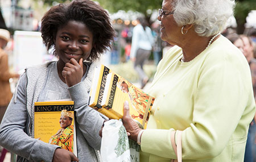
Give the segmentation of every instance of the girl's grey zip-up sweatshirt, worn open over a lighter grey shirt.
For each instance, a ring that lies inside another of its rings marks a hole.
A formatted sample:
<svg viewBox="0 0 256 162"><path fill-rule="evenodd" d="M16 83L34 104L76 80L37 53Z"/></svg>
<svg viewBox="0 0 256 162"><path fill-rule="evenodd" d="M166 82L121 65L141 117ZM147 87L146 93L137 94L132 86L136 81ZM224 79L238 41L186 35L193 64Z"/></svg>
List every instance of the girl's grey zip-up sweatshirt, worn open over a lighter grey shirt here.
<svg viewBox="0 0 256 162"><path fill-rule="evenodd" d="M20 77L15 94L0 126L0 145L14 152L17 161L52 161L59 146L34 139L34 102L38 101L46 83L48 65L27 68ZM97 63L89 64L84 81L68 88L75 102L77 154L80 161L100 161L101 138L98 135L104 119L87 105L88 92Z"/></svg>

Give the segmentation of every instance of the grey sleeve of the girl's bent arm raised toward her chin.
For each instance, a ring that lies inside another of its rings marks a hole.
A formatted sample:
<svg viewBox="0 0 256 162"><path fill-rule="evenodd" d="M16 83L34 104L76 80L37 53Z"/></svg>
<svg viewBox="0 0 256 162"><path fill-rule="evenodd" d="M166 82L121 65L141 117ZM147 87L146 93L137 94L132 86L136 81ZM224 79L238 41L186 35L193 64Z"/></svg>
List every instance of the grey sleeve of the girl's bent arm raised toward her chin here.
<svg viewBox="0 0 256 162"><path fill-rule="evenodd" d="M104 119L98 111L88 106L88 84L88 81L83 81L68 88L68 90L75 103L76 121L82 135L92 148L100 150L101 137L99 132Z"/></svg>

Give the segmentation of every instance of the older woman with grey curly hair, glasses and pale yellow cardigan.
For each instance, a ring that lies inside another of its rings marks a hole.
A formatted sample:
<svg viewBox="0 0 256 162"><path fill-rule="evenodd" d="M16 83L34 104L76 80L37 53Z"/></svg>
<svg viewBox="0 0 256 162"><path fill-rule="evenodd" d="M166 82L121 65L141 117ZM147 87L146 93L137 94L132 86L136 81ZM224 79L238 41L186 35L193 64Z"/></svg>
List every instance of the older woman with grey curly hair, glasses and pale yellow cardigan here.
<svg viewBox="0 0 256 162"><path fill-rule="evenodd" d="M250 68L242 52L220 35L234 3L163 1L160 36L175 46L147 91L155 102L146 130L136 126L124 105L123 124L129 138L141 144L141 161L243 161L255 113Z"/></svg>

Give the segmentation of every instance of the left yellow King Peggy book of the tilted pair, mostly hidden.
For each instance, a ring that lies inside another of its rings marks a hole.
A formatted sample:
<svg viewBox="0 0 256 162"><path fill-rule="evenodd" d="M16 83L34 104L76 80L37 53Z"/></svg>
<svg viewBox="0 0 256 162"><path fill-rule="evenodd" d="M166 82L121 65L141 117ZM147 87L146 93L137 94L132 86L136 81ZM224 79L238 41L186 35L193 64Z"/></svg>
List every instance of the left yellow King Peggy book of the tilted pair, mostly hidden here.
<svg viewBox="0 0 256 162"><path fill-rule="evenodd" d="M100 67L95 68L94 76L92 80L92 86L90 88L88 105L93 109L99 111L101 114L105 115L106 117L115 119L117 118L116 115L114 114L109 115L106 109L101 109L102 108L101 102L104 94L106 77L110 71L111 70L108 67L102 64Z"/></svg>

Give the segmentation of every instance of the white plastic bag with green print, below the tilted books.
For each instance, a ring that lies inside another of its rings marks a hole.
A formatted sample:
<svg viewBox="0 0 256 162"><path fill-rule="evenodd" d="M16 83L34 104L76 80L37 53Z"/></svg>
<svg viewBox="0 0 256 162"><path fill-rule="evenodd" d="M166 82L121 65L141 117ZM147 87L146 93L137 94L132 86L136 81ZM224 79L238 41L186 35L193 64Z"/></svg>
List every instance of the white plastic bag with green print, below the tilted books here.
<svg viewBox="0 0 256 162"><path fill-rule="evenodd" d="M101 139L102 161L138 162L139 149L136 142L128 139L121 121L110 120L104 123Z"/></svg>

